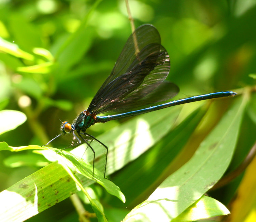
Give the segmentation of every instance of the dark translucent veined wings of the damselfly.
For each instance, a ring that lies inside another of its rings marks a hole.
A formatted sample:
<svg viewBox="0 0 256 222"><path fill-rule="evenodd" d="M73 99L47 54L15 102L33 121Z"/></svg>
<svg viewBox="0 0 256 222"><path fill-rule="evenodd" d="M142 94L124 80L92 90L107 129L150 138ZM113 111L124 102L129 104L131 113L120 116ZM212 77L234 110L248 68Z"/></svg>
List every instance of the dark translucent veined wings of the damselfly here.
<svg viewBox="0 0 256 222"><path fill-rule="evenodd" d="M169 55L160 44L158 31L152 25L142 25L130 35L87 111L95 114L129 111L166 101L179 92L175 84L163 83L169 70Z"/></svg>

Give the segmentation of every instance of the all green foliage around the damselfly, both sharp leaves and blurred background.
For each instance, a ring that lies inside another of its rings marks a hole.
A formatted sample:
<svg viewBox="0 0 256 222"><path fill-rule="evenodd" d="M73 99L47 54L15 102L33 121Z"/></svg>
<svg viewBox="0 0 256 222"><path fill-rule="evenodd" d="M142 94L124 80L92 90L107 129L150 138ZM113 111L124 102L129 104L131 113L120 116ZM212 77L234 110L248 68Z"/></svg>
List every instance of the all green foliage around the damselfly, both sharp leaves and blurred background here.
<svg viewBox="0 0 256 222"><path fill-rule="evenodd" d="M255 3L129 3L136 27L151 23L161 35L168 80L180 87L175 99L238 95L94 125L88 133L109 147L111 181L95 141L92 180L90 150L58 152L72 136L41 145L59 133L59 120L88 107L111 72L131 33L125 2L1 1L1 221L196 221L229 211L222 220L255 221L254 156L244 175L211 189L255 143Z"/></svg>

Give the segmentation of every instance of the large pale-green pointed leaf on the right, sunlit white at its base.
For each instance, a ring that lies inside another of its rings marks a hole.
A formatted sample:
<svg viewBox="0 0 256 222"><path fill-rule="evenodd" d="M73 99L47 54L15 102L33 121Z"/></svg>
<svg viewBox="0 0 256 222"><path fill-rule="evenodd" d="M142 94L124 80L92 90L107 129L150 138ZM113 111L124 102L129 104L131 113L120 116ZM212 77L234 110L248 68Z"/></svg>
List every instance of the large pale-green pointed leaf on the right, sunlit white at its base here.
<svg viewBox="0 0 256 222"><path fill-rule="evenodd" d="M194 156L163 181L125 221L170 221L207 192L225 173L236 146L240 123L248 98L238 98L214 130L200 144Z"/></svg>

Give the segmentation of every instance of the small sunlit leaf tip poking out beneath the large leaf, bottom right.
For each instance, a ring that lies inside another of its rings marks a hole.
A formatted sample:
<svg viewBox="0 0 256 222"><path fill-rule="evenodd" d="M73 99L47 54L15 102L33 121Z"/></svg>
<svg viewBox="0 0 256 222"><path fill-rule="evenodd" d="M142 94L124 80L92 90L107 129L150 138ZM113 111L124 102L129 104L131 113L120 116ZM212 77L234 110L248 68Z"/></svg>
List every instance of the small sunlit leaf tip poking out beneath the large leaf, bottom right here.
<svg viewBox="0 0 256 222"><path fill-rule="evenodd" d="M172 222L189 222L229 214L229 210L216 199L203 195Z"/></svg>

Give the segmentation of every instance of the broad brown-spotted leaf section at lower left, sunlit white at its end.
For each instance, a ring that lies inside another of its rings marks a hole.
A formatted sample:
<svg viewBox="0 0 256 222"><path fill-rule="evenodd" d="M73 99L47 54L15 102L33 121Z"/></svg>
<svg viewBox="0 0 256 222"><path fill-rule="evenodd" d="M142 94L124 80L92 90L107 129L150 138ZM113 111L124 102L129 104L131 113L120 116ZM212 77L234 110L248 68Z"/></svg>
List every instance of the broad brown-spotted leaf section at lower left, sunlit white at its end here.
<svg viewBox="0 0 256 222"><path fill-rule="evenodd" d="M2 191L0 221L24 221L77 192L76 183L57 162Z"/></svg>

